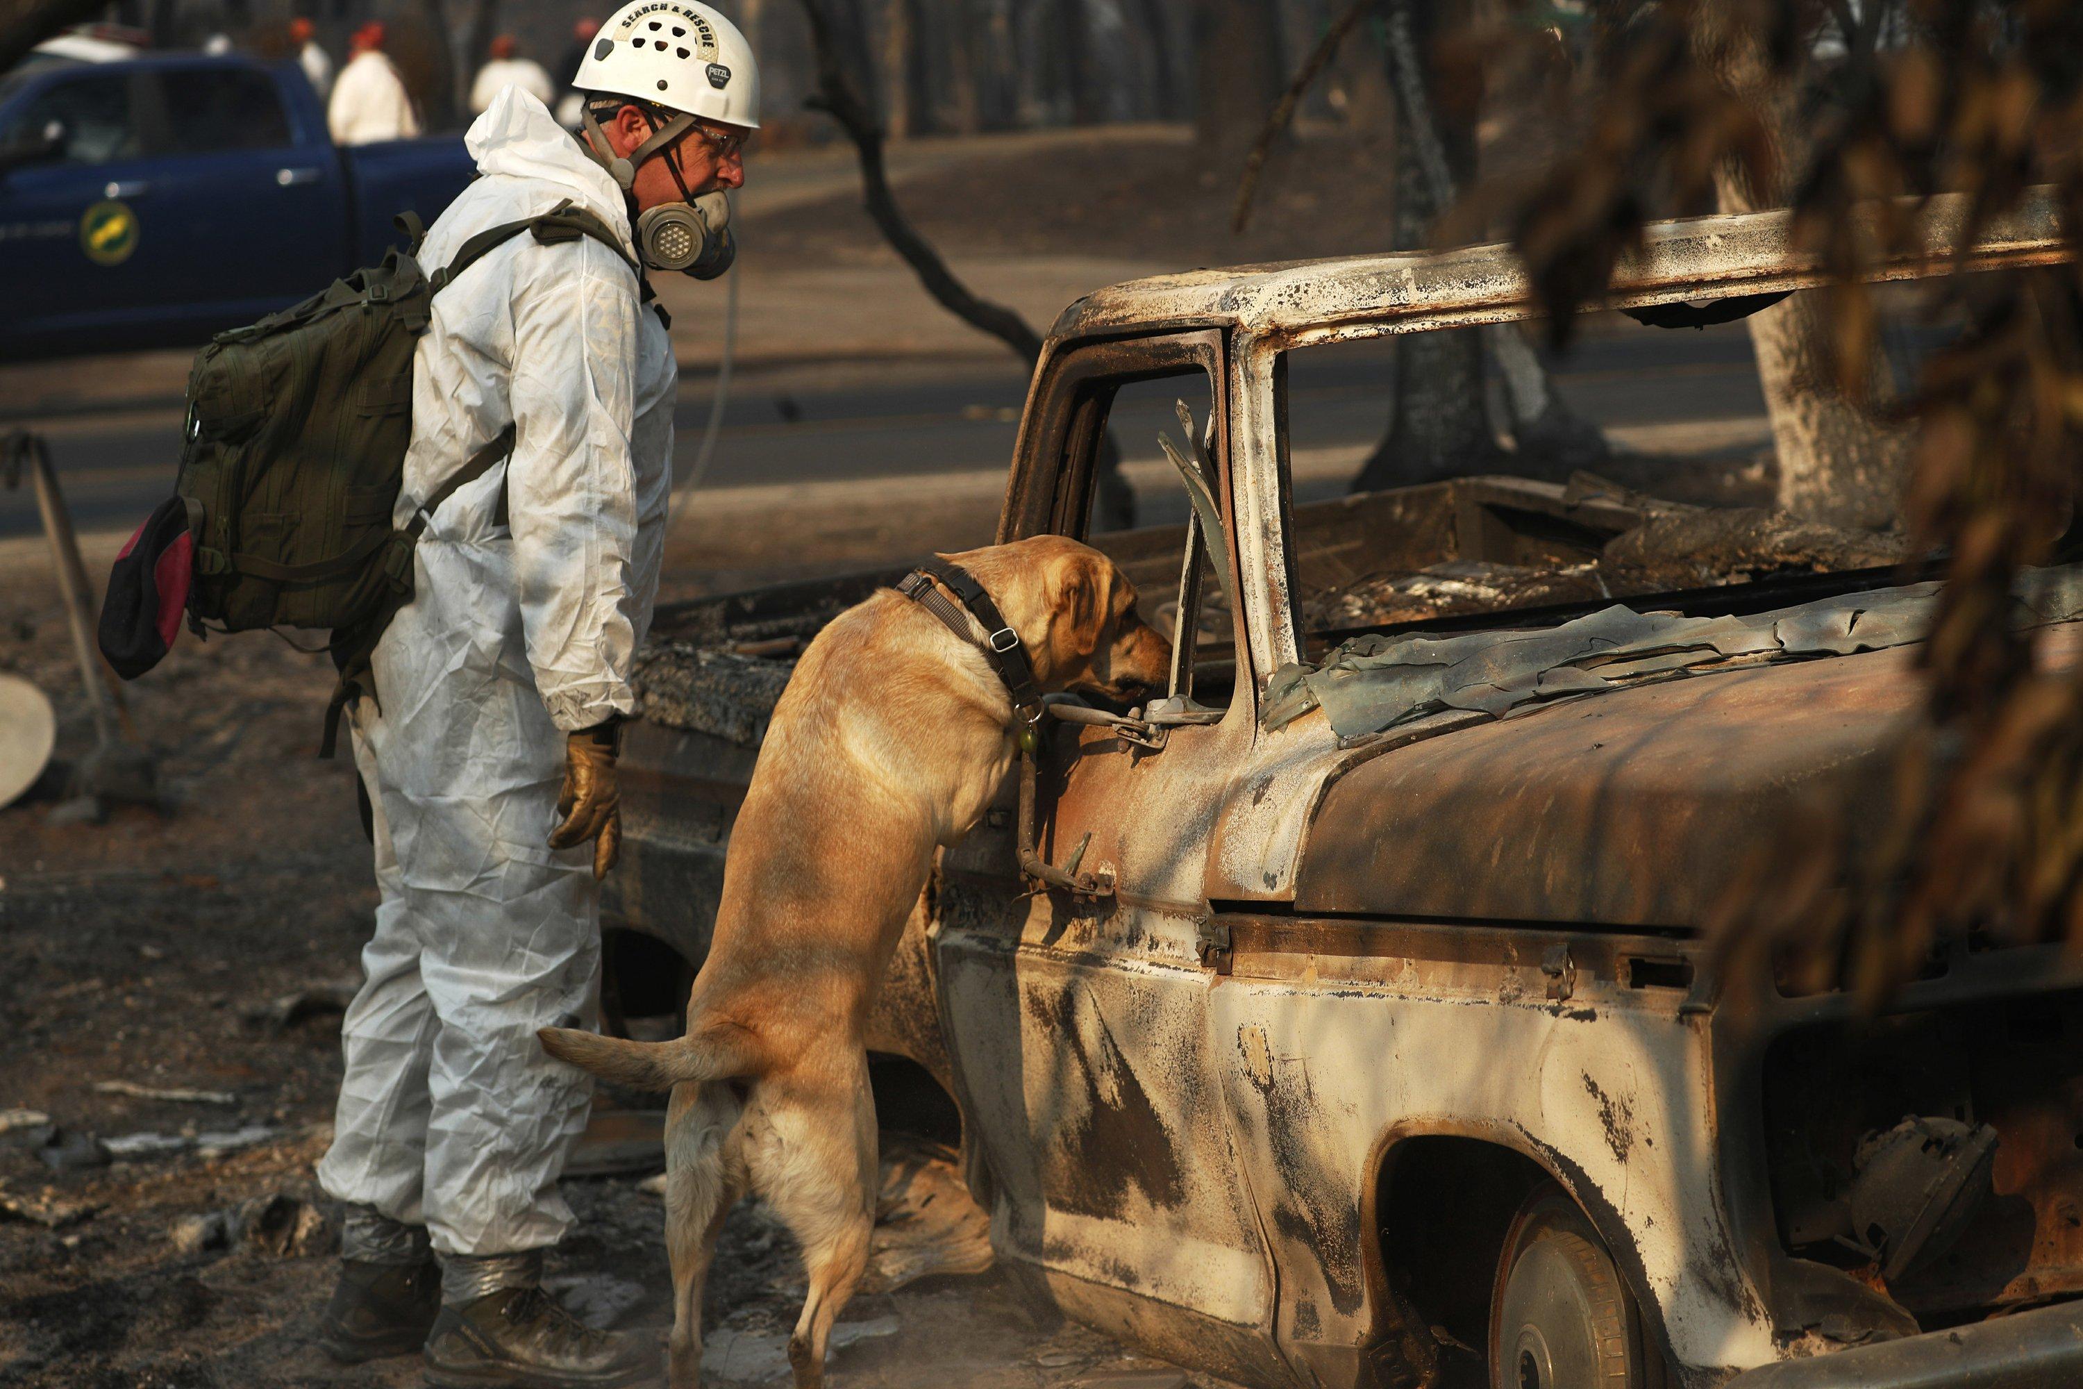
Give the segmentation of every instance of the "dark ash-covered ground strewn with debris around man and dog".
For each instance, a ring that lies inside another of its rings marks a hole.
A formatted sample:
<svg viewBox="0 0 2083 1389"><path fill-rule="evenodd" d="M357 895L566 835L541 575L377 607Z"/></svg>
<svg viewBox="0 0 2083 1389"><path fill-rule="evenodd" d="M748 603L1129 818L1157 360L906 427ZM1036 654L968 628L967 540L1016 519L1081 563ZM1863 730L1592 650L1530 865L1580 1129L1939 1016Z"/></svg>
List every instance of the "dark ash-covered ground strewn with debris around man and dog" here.
<svg viewBox="0 0 2083 1389"><path fill-rule="evenodd" d="M944 525L987 533L994 508L973 510ZM742 519L719 525L692 552L769 577ZM112 544L85 558L106 573ZM842 541L827 562L862 558ZM669 596L702 587L679 573ZM0 546L0 671L60 710L60 764L0 810L0 1385L419 1385L417 1358L344 1368L312 1343L337 1241L312 1164L377 902L350 766L312 756L327 662L265 633L183 635L129 691L162 804L104 818L65 798L94 733L40 541ZM587 1318L662 1339L662 1202L642 1181L567 1179L581 1224L548 1277ZM714 1383L787 1383L800 1299L789 1237L739 1206L704 1314ZM998 1270L860 1295L842 1327L839 1389L1212 1383L1027 1310Z"/></svg>

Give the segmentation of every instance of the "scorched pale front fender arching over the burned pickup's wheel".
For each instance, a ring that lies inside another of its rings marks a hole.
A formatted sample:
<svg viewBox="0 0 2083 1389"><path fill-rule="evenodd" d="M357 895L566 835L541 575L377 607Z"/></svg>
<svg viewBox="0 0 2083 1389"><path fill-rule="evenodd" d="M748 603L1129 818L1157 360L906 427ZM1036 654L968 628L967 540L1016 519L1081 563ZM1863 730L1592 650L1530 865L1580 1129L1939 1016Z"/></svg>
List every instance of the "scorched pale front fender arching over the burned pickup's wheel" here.
<svg viewBox="0 0 2083 1389"><path fill-rule="evenodd" d="M1358 1229L1375 1156L1475 1133L1577 1197L1681 1362L1771 1360L1718 1195L1706 1018L1591 970L1562 1002L1529 987L1537 968L1521 975L1331 983L1304 966L1210 995L1237 1156L1279 1264L1281 1347L1321 1383L1352 1383L1383 1327L1364 1279L1373 1231Z"/></svg>

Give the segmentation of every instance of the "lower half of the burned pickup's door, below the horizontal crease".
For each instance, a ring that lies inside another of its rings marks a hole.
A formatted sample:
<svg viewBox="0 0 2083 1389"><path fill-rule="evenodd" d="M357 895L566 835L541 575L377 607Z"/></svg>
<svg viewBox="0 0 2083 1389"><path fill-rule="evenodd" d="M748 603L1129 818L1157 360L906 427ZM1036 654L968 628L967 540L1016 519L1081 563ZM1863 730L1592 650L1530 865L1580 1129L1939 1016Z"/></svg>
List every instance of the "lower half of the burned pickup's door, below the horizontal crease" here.
<svg viewBox="0 0 2083 1389"><path fill-rule="evenodd" d="M994 1243L1264 1331L1273 1287L1250 1199L1235 1166L1210 1160L1229 1139L1206 1062L1206 977L1108 960L1079 935L1044 904L1021 941L942 937L954 1064L998 1197Z"/></svg>

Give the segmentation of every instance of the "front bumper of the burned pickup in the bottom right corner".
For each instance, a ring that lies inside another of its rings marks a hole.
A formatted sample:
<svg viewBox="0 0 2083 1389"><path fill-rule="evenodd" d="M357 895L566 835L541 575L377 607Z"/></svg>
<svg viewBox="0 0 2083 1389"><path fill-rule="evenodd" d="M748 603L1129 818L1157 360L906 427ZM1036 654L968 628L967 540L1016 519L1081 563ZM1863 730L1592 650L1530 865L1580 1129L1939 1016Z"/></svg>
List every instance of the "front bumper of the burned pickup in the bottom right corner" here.
<svg viewBox="0 0 2083 1389"><path fill-rule="evenodd" d="M1743 1370L1727 1389L2046 1389L2083 1383L2083 1306Z"/></svg>

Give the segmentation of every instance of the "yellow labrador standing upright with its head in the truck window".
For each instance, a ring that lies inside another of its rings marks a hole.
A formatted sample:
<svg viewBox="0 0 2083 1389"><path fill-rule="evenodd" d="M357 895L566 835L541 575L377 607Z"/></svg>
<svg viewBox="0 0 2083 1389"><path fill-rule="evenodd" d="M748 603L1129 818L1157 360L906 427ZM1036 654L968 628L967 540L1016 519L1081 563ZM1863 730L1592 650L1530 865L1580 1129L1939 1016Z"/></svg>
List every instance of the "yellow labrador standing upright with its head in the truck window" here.
<svg viewBox="0 0 2083 1389"><path fill-rule="evenodd" d="M673 1091L675 1389L700 1379L702 1283L739 1193L764 1199L802 1245L810 1295L787 1347L798 1389L823 1385L825 1339L867 1268L877 1189L869 1006L933 850L977 823L1017 752L1006 656L987 654L992 633L975 612L989 604L954 608L952 585L967 573L1019 635L1029 698L1129 698L1166 677L1171 643L1135 614L1133 585L1098 550L1048 535L944 558L960 573L925 598L946 618L883 589L802 654L731 829L687 1035L542 1033L554 1056L598 1077ZM1010 635L998 646L1012 648Z"/></svg>

